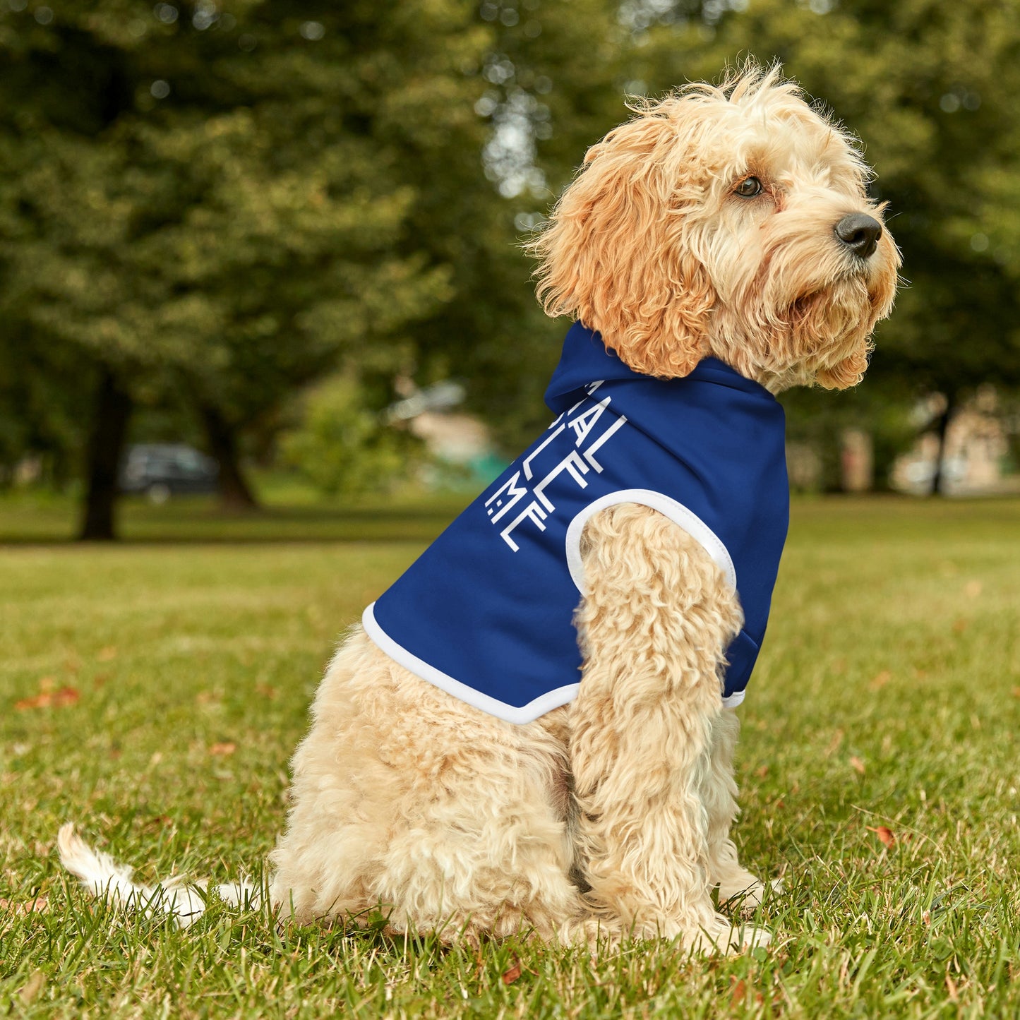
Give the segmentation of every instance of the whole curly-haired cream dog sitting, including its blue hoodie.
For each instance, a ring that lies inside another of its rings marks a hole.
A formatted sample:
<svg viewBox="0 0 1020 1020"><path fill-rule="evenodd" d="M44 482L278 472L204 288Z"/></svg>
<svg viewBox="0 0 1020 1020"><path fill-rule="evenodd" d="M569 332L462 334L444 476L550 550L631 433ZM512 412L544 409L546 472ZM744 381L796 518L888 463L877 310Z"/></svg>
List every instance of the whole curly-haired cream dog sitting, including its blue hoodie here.
<svg viewBox="0 0 1020 1020"><path fill-rule="evenodd" d="M762 891L730 839L732 706L785 536L773 395L864 373L899 266L867 177L753 66L591 149L532 244L546 310L577 319L558 417L329 665L278 909L382 905L469 940L767 939L711 891ZM93 887L123 878L69 826L61 849Z"/></svg>

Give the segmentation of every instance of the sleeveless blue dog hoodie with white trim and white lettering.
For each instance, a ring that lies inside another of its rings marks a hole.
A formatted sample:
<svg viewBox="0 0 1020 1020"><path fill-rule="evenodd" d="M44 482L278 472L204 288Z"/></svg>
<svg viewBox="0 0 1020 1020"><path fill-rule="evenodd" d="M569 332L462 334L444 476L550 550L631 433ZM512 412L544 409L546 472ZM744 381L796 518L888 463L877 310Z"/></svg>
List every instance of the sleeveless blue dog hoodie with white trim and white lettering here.
<svg viewBox="0 0 1020 1020"><path fill-rule="evenodd" d="M530 722L580 685L584 522L640 503L697 539L736 589L745 624L721 694L738 705L786 538L782 407L715 358L683 378L642 375L579 322L546 403L557 415L546 431L365 610L368 636L469 705Z"/></svg>

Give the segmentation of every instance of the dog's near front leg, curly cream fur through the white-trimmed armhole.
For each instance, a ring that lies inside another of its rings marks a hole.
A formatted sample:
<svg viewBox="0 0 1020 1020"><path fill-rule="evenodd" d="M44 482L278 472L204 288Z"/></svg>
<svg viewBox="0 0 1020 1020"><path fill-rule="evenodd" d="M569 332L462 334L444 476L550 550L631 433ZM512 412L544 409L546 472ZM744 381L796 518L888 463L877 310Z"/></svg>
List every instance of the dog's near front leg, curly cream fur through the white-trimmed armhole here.
<svg viewBox="0 0 1020 1020"><path fill-rule="evenodd" d="M742 621L735 594L696 540L635 504L594 516L581 556L570 755L591 901L639 936L682 935L700 950L764 942L731 930L710 895L703 784Z"/></svg>

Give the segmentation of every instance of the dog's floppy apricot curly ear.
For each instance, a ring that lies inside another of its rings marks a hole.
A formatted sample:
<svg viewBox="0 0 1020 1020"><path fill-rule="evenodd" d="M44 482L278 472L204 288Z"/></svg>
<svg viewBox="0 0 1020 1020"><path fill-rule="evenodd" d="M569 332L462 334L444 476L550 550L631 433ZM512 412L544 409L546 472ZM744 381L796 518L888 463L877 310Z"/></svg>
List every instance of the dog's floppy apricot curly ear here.
<svg viewBox="0 0 1020 1020"><path fill-rule="evenodd" d="M681 104L649 108L593 146L528 245L547 314L574 315L635 371L668 377L709 353L715 303L678 200Z"/></svg>

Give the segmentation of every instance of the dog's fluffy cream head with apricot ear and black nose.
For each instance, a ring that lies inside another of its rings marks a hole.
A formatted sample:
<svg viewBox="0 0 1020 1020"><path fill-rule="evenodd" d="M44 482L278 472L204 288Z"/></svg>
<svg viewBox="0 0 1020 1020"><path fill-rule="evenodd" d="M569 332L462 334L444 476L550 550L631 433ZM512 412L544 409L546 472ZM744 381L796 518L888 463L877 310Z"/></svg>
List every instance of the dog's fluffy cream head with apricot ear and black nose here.
<svg viewBox="0 0 1020 1020"><path fill-rule="evenodd" d="M778 68L687 86L589 150L530 245L540 297L650 375L854 386L900 265L867 181Z"/></svg>

